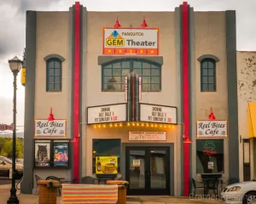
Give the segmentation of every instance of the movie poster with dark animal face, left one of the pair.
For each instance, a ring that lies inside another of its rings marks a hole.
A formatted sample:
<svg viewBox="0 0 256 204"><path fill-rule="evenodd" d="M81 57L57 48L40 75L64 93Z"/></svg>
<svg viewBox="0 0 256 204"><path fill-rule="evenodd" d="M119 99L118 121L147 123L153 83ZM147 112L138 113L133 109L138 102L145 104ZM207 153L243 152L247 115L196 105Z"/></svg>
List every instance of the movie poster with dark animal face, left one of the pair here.
<svg viewBox="0 0 256 204"><path fill-rule="evenodd" d="M50 143L35 142L35 167L49 167Z"/></svg>

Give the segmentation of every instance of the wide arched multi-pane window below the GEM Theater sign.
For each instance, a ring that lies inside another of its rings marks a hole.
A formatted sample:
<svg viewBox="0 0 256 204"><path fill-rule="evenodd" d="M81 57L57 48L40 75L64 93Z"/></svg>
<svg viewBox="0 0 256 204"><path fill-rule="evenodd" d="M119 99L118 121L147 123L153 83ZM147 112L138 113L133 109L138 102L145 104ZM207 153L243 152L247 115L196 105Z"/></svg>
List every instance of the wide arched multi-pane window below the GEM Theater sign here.
<svg viewBox="0 0 256 204"><path fill-rule="evenodd" d="M161 65L145 59L119 59L102 65L102 91L125 91L125 77L135 71L142 77L143 92L160 92Z"/></svg>

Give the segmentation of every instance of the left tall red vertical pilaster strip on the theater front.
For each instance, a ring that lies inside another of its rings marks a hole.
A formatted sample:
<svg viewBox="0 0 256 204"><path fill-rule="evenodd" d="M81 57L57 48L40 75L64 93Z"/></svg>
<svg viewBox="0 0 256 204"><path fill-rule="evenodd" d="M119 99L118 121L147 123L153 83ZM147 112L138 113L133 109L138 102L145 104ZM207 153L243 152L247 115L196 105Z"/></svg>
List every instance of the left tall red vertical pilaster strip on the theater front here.
<svg viewBox="0 0 256 204"><path fill-rule="evenodd" d="M74 16L73 138L79 137L80 3ZM73 143L73 178L79 178L79 139ZM78 180L78 179L77 179Z"/></svg>

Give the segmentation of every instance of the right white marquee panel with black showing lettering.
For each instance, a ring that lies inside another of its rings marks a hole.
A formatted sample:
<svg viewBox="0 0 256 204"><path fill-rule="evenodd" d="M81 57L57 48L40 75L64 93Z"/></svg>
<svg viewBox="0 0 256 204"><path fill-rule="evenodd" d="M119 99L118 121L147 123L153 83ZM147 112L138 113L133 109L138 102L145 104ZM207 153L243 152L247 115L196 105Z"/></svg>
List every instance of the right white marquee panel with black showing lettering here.
<svg viewBox="0 0 256 204"><path fill-rule="evenodd" d="M140 104L140 121L177 125L177 107Z"/></svg>

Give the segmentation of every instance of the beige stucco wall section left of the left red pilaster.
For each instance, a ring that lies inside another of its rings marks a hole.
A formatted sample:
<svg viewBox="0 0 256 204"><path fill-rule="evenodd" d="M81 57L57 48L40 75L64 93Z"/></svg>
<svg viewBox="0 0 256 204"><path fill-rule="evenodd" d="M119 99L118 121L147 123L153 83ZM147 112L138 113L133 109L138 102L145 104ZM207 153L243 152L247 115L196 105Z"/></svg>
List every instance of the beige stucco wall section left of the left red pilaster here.
<svg viewBox="0 0 256 204"><path fill-rule="evenodd" d="M56 119L69 119L68 111L68 12L38 12L37 13L37 50L36 50L36 93L35 118L47 119L50 107ZM60 54L65 60L62 62L62 91L46 92L46 62L44 57L49 54ZM69 132L67 126L67 132ZM67 135L70 137L70 135ZM37 169L34 174L42 178L57 176L69 179L67 170ZM34 180L34 186L36 182Z"/></svg>

